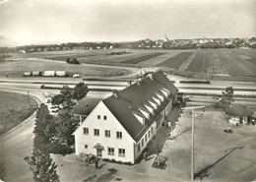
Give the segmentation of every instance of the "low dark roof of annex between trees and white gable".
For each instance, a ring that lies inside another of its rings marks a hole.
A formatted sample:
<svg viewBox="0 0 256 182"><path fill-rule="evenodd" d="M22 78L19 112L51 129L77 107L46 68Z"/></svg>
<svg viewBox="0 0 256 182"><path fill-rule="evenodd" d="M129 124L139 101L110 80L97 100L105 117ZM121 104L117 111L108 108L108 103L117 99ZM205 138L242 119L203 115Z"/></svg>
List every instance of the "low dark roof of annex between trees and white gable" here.
<svg viewBox="0 0 256 182"><path fill-rule="evenodd" d="M72 114L89 115L101 99L85 97L73 108Z"/></svg>

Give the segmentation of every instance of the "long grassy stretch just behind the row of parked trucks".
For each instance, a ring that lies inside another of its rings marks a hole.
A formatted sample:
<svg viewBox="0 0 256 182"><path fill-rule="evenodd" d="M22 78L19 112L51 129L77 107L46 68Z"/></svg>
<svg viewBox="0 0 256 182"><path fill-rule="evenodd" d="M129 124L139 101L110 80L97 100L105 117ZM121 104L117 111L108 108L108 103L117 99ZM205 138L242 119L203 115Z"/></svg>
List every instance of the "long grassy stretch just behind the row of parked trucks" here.
<svg viewBox="0 0 256 182"><path fill-rule="evenodd" d="M125 69L103 68L85 65L71 65L58 61L40 61L36 59L25 59L5 61L0 63L0 76L22 77L26 71L68 71L84 76L111 77L116 75L127 75L130 71Z"/></svg>

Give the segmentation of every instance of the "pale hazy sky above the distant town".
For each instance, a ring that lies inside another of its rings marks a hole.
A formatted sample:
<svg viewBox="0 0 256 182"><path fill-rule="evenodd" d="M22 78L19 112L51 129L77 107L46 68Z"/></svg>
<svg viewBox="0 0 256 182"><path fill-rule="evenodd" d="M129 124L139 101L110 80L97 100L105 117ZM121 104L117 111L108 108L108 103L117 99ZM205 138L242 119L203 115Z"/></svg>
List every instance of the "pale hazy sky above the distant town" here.
<svg viewBox="0 0 256 182"><path fill-rule="evenodd" d="M20 43L251 37L256 0L0 0L0 39Z"/></svg>

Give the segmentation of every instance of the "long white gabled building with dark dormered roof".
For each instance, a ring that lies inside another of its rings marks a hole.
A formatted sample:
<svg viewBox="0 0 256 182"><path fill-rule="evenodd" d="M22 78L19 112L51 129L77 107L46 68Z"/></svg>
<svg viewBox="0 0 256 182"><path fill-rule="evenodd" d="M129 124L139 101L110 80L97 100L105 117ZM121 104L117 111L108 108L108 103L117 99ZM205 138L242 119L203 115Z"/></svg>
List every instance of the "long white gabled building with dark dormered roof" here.
<svg viewBox="0 0 256 182"><path fill-rule="evenodd" d="M163 124L177 91L158 71L100 100L74 132L76 154L134 163Z"/></svg>

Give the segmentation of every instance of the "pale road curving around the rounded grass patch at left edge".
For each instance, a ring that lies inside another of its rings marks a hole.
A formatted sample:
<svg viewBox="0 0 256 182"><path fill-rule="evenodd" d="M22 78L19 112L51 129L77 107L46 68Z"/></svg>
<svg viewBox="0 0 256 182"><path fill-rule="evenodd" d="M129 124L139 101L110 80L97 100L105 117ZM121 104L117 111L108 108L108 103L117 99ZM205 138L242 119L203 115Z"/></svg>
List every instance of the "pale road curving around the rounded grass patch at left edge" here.
<svg viewBox="0 0 256 182"><path fill-rule="evenodd" d="M28 89L0 87L0 91L27 94ZM30 90L30 94L38 103L43 102L41 91ZM7 182L33 181L32 171L24 157L32 153L34 119L35 113L16 128L0 137L0 152L3 152L1 155L4 156L4 165L6 167L4 180Z"/></svg>

